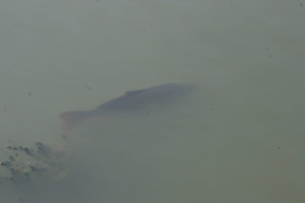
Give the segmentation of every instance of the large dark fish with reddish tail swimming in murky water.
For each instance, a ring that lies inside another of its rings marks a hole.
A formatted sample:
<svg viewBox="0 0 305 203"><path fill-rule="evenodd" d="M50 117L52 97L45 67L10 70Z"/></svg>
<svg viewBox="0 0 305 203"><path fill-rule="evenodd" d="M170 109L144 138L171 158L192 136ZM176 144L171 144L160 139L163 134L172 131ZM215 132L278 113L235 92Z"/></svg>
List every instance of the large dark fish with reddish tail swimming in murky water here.
<svg viewBox="0 0 305 203"><path fill-rule="evenodd" d="M170 105L177 99L186 96L194 87L194 85L172 82L146 89L127 91L124 95L109 100L93 110L68 111L59 114L59 116L65 121L63 128L68 130L90 117L141 111L149 114L152 106L165 107Z"/></svg>

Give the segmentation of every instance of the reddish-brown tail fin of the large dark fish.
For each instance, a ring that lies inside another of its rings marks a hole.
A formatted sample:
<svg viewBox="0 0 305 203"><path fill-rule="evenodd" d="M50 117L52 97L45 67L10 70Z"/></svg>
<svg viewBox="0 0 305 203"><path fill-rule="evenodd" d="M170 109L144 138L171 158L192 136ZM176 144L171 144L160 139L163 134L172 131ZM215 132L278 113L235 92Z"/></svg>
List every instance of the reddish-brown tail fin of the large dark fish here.
<svg viewBox="0 0 305 203"><path fill-rule="evenodd" d="M88 117L90 117L89 111L67 111L59 114L65 123L63 124L63 130L70 130L75 127L80 122L84 121Z"/></svg>

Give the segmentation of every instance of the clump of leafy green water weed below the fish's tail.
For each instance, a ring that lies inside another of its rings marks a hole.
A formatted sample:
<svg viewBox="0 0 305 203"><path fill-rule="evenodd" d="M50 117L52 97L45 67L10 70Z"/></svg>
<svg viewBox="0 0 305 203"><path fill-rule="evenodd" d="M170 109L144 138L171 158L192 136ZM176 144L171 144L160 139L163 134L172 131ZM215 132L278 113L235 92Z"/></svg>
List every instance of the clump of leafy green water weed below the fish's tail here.
<svg viewBox="0 0 305 203"><path fill-rule="evenodd" d="M10 176L0 175L2 180L18 181L29 180L38 173L46 173L52 180L61 180L68 177L68 170L64 164L67 152L62 144L54 142L35 142L37 149L23 146L6 145L12 150L8 160L1 161L0 167L8 169ZM1 171L3 169L0 168Z"/></svg>

